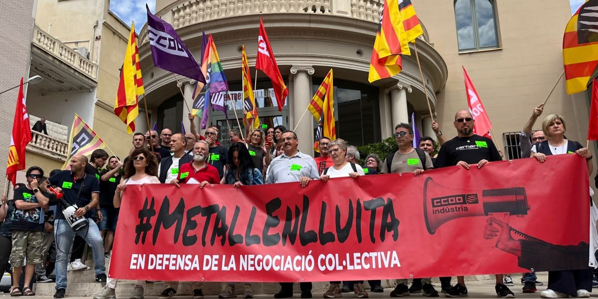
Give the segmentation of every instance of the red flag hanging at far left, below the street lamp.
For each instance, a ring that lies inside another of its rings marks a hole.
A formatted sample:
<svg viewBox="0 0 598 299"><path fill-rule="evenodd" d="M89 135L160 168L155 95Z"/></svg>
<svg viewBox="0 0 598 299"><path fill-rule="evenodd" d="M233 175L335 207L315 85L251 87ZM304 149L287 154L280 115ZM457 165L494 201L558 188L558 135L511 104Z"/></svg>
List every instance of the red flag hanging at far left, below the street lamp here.
<svg viewBox="0 0 598 299"><path fill-rule="evenodd" d="M13 186L17 184L17 171L25 169L25 148L29 141L31 141L31 129L29 127L29 114L25 105L25 96L23 95L23 78L21 78L17 109L14 112L13 136L10 139L8 164L6 166L6 176L13 183Z"/></svg>

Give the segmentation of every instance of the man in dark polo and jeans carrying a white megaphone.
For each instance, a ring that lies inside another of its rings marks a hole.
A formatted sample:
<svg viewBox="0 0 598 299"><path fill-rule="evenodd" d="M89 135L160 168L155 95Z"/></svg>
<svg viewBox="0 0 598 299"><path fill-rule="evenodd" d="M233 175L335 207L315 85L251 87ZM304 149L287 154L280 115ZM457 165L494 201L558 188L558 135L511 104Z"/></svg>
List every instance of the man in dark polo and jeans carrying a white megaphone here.
<svg viewBox="0 0 598 299"><path fill-rule="evenodd" d="M106 283L106 267L104 264L103 240L96 222L93 221L91 208L99 202L100 186L95 176L85 173L88 160L84 155L74 155L71 158L71 170L63 170L48 178L50 185L62 188L62 199L67 205L76 205L75 216L84 216L87 227L77 232L65 219L63 210L66 208L59 202L56 220L54 220L54 237L56 239L56 294L54 298L64 298L66 291L66 264L71 252L71 245L75 235L84 237L93 251L94 271L96 282ZM97 218L102 221L102 213L98 210ZM76 248L73 248L75 250Z"/></svg>

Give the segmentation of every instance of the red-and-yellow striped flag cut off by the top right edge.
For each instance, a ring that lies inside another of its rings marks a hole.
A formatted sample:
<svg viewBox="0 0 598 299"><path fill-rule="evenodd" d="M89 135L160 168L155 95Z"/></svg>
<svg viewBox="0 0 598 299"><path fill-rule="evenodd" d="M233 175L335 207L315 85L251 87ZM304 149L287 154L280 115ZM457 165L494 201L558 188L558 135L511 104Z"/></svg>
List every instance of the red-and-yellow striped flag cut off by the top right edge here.
<svg viewBox="0 0 598 299"><path fill-rule="evenodd" d="M598 65L598 0L588 0L569 20L563 35L563 64L568 94L587 89Z"/></svg>

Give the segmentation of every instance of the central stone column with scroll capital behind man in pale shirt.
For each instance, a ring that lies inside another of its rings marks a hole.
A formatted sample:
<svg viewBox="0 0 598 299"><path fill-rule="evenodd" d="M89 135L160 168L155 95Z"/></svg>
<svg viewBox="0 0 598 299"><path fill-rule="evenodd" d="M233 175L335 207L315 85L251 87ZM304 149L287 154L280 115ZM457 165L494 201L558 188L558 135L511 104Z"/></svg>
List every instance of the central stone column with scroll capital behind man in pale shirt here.
<svg viewBox="0 0 598 299"><path fill-rule="evenodd" d="M293 130L295 127L295 134L299 139L299 150L304 154L313 154L313 120L311 113L305 115L303 120L301 116L307 105L312 99L312 85L310 84L310 77L314 70L311 66L293 66L291 74L293 74L293 97L292 97L292 123L289 121L287 129ZM301 121L298 123L298 121Z"/></svg>

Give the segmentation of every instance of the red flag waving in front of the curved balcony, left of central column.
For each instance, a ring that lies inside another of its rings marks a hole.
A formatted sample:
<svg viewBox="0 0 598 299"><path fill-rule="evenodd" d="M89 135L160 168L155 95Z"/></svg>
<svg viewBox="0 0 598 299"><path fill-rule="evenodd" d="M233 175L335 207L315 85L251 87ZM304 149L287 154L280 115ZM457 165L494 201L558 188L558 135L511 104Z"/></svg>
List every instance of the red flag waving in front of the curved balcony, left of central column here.
<svg viewBox="0 0 598 299"><path fill-rule="evenodd" d="M272 47L270 47L268 35L266 35L266 29L264 28L264 22L262 22L261 17L258 56L255 59L255 69L261 69L272 80L272 88L274 89L274 94L276 94L278 111L282 111L286 96L289 94L289 89L286 88L285 81L282 80L282 75L280 75L280 70L276 64L276 59L274 59L274 52L272 51Z"/></svg>

